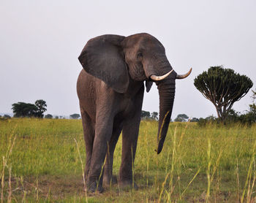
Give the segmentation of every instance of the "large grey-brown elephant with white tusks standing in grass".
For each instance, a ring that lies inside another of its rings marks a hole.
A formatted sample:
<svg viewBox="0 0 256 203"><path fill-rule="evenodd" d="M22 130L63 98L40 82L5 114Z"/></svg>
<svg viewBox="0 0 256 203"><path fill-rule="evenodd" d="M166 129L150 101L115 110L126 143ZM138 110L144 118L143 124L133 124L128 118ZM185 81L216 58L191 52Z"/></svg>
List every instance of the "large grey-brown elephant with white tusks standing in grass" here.
<svg viewBox="0 0 256 203"><path fill-rule="evenodd" d="M150 34L129 37L105 34L90 39L78 60L83 66L77 93L86 144L84 177L86 191L104 191L102 185L117 182L120 187L138 186L132 180L132 166L138 142L140 114L146 91L153 83L159 90L160 153L165 142L175 96L177 74L165 55L165 47ZM113 153L122 131L121 166L113 176Z"/></svg>

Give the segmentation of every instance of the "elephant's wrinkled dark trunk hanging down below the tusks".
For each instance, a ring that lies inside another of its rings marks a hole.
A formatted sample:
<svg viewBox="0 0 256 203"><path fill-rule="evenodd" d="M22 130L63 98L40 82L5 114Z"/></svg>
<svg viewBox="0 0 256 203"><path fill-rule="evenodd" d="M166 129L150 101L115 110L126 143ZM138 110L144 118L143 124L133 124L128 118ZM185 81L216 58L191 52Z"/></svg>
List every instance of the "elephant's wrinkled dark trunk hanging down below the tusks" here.
<svg viewBox="0 0 256 203"><path fill-rule="evenodd" d="M170 123L170 115L173 111L173 101L175 96L175 80L168 80L168 83L159 83L159 123L157 133L157 154L162 151L165 142L168 126Z"/></svg>

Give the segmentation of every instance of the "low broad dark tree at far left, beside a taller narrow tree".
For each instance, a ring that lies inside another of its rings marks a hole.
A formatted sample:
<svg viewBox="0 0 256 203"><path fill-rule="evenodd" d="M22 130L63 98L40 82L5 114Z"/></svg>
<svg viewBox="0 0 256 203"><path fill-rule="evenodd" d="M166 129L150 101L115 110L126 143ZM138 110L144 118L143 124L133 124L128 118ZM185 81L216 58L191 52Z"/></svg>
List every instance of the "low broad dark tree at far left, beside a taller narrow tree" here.
<svg viewBox="0 0 256 203"><path fill-rule="evenodd" d="M37 116L37 106L34 104L18 102L12 104L12 111L14 117L32 117Z"/></svg>

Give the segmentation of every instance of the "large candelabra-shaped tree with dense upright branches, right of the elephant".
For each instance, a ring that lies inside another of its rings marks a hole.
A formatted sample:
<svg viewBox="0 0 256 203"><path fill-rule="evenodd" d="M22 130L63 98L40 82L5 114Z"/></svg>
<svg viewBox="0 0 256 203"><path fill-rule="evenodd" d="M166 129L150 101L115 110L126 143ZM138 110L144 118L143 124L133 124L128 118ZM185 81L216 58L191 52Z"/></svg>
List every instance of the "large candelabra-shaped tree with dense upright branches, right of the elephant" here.
<svg viewBox="0 0 256 203"><path fill-rule="evenodd" d="M253 83L249 77L237 74L233 69L211 66L207 72L195 77L194 85L214 104L218 118L225 122L233 104L248 93Z"/></svg>

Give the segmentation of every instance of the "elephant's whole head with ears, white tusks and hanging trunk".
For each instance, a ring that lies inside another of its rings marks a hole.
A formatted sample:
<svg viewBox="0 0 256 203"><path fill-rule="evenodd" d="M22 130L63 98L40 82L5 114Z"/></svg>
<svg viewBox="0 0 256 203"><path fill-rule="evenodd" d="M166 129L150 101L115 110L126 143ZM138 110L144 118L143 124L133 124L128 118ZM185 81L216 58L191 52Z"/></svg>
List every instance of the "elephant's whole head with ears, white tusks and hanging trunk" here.
<svg viewBox="0 0 256 203"><path fill-rule="evenodd" d="M103 80L118 93L125 93L129 78L146 80L149 91L153 82L159 90L158 148L165 142L170 115L173 110L175 80L187 77L173 71L165 55L165 47L150 34L129 37L103 35L90 39L79 56L79 61L89 74Z"/></svg>

